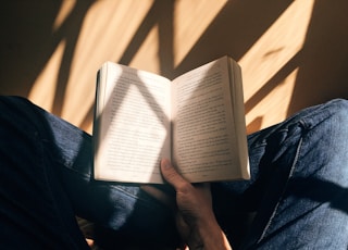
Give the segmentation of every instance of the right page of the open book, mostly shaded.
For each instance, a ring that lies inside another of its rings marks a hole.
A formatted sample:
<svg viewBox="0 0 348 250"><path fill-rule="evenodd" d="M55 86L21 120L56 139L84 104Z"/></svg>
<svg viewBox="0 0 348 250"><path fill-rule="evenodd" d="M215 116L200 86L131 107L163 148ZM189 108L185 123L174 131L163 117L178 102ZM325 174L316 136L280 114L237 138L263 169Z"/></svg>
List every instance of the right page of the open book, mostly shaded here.
<svg viewBox="0 0 348 250"><path fill-rule="evenodd" d="M173 82L173 159L189 182L240 178L227 58Z"/></svg>

